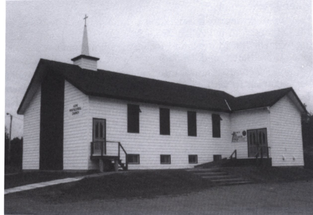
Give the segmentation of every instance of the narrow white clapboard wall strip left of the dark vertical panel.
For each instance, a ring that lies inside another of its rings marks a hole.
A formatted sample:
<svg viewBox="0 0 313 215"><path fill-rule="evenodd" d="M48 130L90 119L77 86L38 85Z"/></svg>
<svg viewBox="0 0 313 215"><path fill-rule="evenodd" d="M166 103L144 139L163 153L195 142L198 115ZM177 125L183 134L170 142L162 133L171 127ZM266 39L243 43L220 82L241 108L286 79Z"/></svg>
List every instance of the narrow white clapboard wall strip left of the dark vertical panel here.
<svg viewBox="0 0 313 215"><path fill-rule="evenodd" d="M23 170L39 169L40 102L41 86L39 85L24 112Z"/></svg>

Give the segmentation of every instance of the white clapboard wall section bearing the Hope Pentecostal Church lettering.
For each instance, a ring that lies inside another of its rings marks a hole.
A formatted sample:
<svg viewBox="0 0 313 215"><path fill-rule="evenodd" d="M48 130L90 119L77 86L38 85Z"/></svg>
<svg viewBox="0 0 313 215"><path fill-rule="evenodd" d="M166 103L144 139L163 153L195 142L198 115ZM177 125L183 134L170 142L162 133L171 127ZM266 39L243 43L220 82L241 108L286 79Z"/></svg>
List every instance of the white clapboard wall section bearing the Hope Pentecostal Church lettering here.
<svg viewBox="0 0 313 215"><path fill-rule="evenodd" d="M80 107L78 114L72 115L70 109ZM63 169L87 170L88 147L90 139L87 136L86 121L88 116L88 96L65 81L64 87L64 139L63 139Z"/></svg>

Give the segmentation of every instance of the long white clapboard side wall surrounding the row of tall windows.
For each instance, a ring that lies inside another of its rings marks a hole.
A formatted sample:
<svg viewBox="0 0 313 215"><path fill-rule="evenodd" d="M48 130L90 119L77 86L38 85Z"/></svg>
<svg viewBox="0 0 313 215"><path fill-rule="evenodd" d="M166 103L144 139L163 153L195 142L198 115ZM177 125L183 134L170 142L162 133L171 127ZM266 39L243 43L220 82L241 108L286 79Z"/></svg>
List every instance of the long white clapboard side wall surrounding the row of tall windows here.
<svg viewBox="0 0 313 215"><path fill-rule="evenodd" d="M139 104L139 134L127 133L128 103ZM201 164L212 161L215 154L225 157L232 152L228 113L220 113L221 138L213 138L211 114L214 112L166 107L170 109L170 135L160 135L160 107L166 106L90 97L89 141L92 141L92 118L106 119L107 141L121 142L127 153L140 154L140 164L130 164L129 169L189 168L195 164L189 164L188 155L198 155L198 164ZM187 111L197 112L197 137L187 134ZM117 150L117 144L115 147ZM160 164L161 154L171 155L171 164ZM97 162L89 162L89 168L97 168Z"/></svg>

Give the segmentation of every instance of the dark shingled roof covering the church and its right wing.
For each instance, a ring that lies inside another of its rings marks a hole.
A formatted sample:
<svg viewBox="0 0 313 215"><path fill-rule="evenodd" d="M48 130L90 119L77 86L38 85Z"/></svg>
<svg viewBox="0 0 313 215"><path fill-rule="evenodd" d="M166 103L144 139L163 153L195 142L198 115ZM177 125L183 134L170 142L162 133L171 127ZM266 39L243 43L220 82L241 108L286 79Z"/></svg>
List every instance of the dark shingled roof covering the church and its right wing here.
<svg viewBox="0 0 313 215"><path fill-rule="evenodd" d="M193 87L99 69L98 71L91 71L73 64L52 60L40 59L37 68L39 68L39 65L44 65L44 68L48 72L56 72L64 76L65 80L87 95L221 112L231 112L228 105L232 111L272 106L288 92L293 91L290 87L253 95L233 97L219 90ZM37 70L34 76L36 72ZM18 112L32 81L20 104Z"/></svg>

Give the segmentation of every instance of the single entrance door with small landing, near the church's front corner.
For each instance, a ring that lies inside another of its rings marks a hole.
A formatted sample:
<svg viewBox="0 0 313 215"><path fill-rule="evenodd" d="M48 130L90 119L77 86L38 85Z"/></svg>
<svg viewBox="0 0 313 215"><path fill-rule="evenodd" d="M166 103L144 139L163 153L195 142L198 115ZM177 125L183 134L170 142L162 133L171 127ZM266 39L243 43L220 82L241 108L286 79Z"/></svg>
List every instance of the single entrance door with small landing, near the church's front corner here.
<svg viewBox="0 0 313 215"><path fill-rule="evenodd" d="M105 155L105 141L106 141L106 123L105 119L93 119L93 138L92 142L94 142L93 145L93 155ZM101 147L103 146L103 148ZM101 153L101 150L103 153Z"/></svg>

